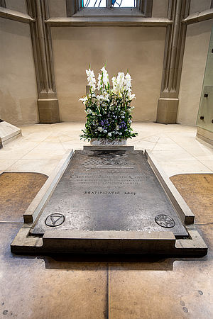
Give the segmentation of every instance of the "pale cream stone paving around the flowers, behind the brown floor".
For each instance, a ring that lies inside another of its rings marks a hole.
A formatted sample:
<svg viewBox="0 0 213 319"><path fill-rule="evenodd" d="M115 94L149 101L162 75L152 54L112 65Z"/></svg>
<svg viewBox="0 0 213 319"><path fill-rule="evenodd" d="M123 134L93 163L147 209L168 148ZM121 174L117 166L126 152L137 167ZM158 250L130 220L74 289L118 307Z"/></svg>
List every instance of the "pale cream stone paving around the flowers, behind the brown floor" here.
<svg viewBox="0 0 213 319"><path fill-rule="evenodd" d="M84 123L22 126L23 137L0 152L0 172L39 172L49 175L65 151L87 144L80 140ZM138 136L129 140L136 150L148 149L172 176L212 173L213 149L195 139L196 128L184 125L134 123Z"/></svg>

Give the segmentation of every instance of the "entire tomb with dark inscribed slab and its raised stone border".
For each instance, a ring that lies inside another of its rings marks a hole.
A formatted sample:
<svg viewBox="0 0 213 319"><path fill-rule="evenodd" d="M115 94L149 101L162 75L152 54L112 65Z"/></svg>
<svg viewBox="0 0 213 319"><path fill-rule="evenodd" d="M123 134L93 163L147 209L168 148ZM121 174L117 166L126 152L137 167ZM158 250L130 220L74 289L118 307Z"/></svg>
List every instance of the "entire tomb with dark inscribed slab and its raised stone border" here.
<svg viewBox="0 0 213 319"><path fill-rule="evenodd" d="M150 153L94 147L60 165L26 211L12 252L207 253L190 208Z"/></svg>

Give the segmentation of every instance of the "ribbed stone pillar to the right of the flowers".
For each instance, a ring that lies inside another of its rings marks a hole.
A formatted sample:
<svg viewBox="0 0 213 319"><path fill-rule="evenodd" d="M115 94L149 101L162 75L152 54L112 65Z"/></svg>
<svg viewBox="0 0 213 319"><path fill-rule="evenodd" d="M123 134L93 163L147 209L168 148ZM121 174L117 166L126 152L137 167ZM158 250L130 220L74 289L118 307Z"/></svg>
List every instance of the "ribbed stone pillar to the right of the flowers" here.
<svg viewBox="0 0 213 319"><path fill-rule="evenodd" d="M189 14L190 0L170 0L168 18L173 24L168 26L165 38L163 77L158 100L157 122L176 123L178 95L185 48L186 24L182 19Z"/></svg>

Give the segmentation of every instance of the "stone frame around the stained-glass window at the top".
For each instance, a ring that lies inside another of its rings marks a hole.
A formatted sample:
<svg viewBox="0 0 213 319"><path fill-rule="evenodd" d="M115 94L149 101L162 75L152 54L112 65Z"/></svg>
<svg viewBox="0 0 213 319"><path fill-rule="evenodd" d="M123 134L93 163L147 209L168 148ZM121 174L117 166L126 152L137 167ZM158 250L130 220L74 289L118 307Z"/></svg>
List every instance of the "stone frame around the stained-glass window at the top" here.
<svg viewBox="0 0 213 319"><path fill-rule="evenodd" d="M137 6L128 8L113 8L111 0L107 0L106 8L82 8L82 0L66 0L67 17L89 17L89 16L152 16L153 0L137 0Z"/></svg>

